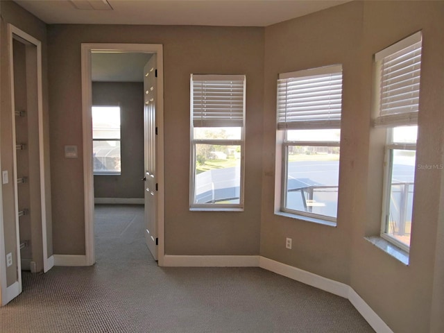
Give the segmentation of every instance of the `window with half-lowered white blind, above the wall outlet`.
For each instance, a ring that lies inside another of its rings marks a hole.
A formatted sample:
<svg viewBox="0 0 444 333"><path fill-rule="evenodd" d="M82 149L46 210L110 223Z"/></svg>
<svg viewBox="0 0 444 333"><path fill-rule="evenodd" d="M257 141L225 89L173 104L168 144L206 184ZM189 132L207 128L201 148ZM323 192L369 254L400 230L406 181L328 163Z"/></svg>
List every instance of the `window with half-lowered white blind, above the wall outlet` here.
<svg viewBox="0 0 444 333"><path fill-rule="evenodd" d="M280 74L280 211L336 223L342 66ZM277 173L278 174L278 173Z"/></svg>

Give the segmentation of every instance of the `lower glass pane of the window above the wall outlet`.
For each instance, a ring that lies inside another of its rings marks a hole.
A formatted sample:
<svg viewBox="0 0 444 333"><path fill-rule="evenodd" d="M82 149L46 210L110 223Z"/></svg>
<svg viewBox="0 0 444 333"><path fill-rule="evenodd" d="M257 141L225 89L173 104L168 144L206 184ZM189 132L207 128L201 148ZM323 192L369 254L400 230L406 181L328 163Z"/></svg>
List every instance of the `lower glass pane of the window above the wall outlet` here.
<svg viewBox="0 0 444 333"><path fill-rule="evenodd" d="M339 147L289 146L285 208L336 218Z"/></svg>

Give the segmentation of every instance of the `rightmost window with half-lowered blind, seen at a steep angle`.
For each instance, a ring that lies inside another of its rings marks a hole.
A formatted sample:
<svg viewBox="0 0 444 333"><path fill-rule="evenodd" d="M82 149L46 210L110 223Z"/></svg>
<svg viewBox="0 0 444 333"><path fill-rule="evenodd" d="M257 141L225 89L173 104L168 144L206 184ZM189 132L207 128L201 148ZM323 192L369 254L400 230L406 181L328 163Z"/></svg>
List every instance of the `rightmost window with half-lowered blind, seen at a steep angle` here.
<svg viewBox="0 0 444 333"><path fill-rule="evenodd" d="M421 33L375 54L377 118L387 128L381 237L409 251L416 163Z"/></svg>

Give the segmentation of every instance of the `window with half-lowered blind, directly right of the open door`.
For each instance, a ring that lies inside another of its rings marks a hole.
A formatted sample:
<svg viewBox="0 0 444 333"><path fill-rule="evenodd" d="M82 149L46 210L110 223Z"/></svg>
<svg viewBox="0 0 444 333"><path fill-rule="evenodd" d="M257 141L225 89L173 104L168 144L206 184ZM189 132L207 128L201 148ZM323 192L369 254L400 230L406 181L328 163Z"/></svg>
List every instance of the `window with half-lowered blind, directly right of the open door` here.
<svg viewBox="0 0 444 333"><path fill-rule="evenodd" d="M244 75L191 74L191 209L244 206Z"/></svg>

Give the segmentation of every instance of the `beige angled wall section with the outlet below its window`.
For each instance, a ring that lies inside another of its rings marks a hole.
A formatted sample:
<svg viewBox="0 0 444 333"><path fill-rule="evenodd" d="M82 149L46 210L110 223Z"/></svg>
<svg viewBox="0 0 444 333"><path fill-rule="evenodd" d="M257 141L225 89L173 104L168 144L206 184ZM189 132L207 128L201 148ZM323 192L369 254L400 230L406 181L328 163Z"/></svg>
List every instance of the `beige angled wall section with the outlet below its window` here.
<svg viewBox="0 0 444 333"><path fill-rule="evenodd" d="M355 179L366 164L366 138L359 135L358 128L360 124L367 126L370 117L355 106L360 95L356 58L360 54L361 17L362 4L350 3L269 26L265 33L261 255L347 284L354 223L350 207L361 186ZM336 228L273 214L278 74L335 64L343 65L341 192ZM286 237L293 239L292 250L285 248Z"/></svg>

